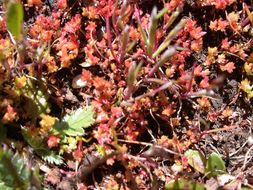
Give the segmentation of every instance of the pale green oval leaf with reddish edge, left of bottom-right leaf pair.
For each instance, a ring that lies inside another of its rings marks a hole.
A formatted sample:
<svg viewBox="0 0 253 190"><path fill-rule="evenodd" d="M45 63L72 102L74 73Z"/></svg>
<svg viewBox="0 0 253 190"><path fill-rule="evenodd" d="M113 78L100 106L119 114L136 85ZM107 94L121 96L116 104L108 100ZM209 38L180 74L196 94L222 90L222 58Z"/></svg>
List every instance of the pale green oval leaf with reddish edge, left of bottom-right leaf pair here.
<svg viewBox="0 0 253 190"><path fill-rule="evenodd" d="M198 150L187 150L185 156L191 167L200 173L205 173L206 159Z"/></svg>

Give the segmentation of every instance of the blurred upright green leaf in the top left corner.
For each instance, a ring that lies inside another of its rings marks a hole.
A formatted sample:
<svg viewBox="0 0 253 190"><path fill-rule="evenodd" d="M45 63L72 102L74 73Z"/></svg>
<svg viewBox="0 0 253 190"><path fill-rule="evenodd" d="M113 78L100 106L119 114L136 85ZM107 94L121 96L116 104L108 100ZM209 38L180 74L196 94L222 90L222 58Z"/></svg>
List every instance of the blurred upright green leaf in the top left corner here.
<svg viewBox="0 0 253 190"><path fill-rule="evenodd" d="M22 23L24 18L23 6L21 3L10 3L7 10L8 30L17 39L20 38Z"/></svg>

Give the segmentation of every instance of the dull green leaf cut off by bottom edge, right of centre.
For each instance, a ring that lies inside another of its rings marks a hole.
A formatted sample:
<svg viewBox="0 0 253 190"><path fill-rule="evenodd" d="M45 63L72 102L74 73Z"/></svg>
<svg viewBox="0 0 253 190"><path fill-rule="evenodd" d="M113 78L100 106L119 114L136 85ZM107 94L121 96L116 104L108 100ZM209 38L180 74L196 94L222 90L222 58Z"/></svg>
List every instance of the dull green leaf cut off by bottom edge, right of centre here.
<svg viewBox="0 0 253 190"><path fill-rule="evenodd" d="M165 190L204 190L204 185L186 179L170 181L165 185Z"/></svg>

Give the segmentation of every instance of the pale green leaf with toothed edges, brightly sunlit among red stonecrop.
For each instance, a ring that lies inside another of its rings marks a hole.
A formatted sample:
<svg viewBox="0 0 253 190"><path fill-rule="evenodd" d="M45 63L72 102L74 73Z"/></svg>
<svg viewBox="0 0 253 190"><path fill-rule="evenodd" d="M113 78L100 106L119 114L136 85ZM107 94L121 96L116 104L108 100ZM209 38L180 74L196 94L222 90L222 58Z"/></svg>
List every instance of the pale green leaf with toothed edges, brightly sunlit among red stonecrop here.
<svg viewBox="0 0 253 190"><path fill-rule="evenodd" d="M61 122L58 122L53 127L54 134L62 134L69 136L84 135L84 128L91 126L94 120L95 113L92 107L79 108L73 113L66 115Z"/></svg>

